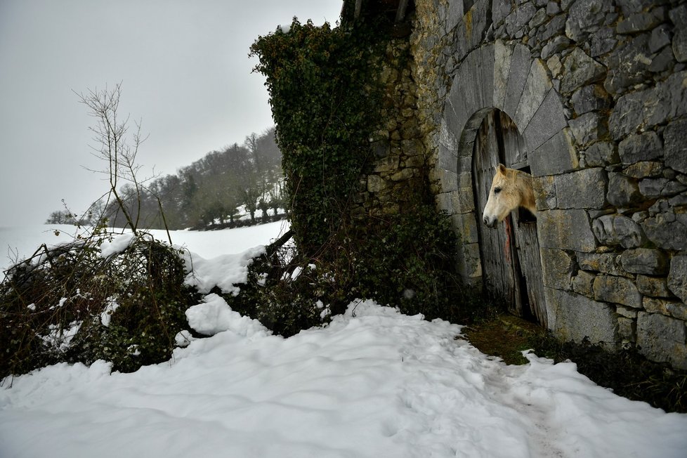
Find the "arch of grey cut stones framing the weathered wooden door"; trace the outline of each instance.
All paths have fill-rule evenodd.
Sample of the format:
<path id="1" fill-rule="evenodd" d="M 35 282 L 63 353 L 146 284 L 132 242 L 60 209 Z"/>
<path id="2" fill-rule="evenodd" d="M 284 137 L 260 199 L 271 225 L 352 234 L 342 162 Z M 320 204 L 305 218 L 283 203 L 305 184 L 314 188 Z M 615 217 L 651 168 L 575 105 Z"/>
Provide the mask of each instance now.
<path id="1" fill-rule="evenodd" d="M 562 174 L 579 166 L 563 104 L 541 59 L 532 58 L 526 46 L 502 41 L 466 55 L 445 100 L 436 172 L 439 207 L 452 215 L 462 235 L 459 272 L 468 282 L 482 277 L 473 145 L 480 124 L 493 110 L 506 113 L 518 126 L 533 176 Z M 537 196 L 538 208 L 544 207 L 542 199 Z"/>

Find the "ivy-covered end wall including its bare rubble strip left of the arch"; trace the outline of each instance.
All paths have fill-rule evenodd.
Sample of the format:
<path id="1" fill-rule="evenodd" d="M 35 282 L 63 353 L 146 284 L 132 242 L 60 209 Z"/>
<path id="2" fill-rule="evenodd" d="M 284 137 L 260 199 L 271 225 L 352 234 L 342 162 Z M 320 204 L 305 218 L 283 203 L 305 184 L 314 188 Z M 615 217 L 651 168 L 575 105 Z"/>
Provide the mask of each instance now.
<path id="1" fill-rule="evenodd" d="M 349 294 L 456 319 L 458 241 L 429 185 L 407 34 L 384 12 L 354 21 L 347 8 L 339 27 L 294 20 L 251 47 L 296 244 Z"/>

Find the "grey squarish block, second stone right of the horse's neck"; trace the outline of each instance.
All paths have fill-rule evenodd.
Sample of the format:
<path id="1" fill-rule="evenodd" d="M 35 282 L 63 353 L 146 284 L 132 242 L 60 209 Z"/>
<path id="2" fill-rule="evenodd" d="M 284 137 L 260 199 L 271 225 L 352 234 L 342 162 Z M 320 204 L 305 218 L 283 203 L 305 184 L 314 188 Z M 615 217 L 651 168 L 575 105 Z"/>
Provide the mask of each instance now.
<path id="1" fill-rule="evenodd" d="M 601 168 L 573 171 L 554 178 L 558 208 L 601 209 L 606 204 L 608 177 Z"/>

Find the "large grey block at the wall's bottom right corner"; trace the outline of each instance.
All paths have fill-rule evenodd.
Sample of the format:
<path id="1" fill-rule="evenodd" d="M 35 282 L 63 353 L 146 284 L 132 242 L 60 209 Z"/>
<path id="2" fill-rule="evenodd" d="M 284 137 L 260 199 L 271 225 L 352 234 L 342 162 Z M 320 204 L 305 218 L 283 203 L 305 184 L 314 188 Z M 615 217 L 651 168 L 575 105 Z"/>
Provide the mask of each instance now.
<path id="1" fill-rule="evenodd" d="M 657 362 L 687 369 L 685 322 L 657 313 L 637 316 L 637 346 L 640 353 Z"/>

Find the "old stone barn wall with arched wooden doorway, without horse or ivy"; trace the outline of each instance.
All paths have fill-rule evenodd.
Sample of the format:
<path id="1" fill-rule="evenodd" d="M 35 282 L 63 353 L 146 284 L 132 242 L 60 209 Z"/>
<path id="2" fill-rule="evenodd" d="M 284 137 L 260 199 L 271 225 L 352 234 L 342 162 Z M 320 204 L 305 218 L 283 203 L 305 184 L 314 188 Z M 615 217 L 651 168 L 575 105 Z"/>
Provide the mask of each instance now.
<path id="1" fill-rule="evenodd" d="M 561 339 L 687 369 L 687 1 L 379 3 L 389 107 L 353 211 L 393 211 L 428 170 L 466 282 Z M 499 162 L 532 174 L 537 215 L 494 229 Z"/>

